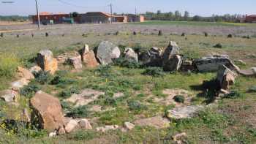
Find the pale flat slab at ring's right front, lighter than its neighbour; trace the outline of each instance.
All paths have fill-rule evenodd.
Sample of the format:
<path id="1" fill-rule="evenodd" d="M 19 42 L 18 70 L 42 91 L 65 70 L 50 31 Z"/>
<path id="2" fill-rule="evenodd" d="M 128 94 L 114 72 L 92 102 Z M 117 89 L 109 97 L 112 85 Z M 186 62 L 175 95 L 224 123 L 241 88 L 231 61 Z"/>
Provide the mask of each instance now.
<path id="1" fill-rule="evenodd" d="M 176 107 L 173 110 L 167 111 L 167 118 L 192 118 L 194 117 L 200 110 L 203 110 L 203 105 L 190 105 L 186 107 Z"/>

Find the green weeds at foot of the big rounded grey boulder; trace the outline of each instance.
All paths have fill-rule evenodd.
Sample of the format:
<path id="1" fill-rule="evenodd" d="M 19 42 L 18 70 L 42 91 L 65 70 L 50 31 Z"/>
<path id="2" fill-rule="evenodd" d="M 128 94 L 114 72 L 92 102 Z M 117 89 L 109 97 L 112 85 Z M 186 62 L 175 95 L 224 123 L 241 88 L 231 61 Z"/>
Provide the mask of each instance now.
<path id="1" fill-rule="evenodd" d="M 119 67 L 127 67 L 129 69 L 137 69 L 141 67 L 141 64 L 138 61 L 130 60 L 127 58 L 117 58 L 114 61 L 114 64 Z"/>

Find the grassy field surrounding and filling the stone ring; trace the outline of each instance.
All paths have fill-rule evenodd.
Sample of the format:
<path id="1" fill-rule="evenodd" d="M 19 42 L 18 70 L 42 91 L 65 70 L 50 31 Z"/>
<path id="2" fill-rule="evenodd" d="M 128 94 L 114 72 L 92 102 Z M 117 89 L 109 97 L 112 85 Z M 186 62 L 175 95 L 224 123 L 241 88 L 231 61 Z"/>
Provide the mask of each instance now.
<path id="1" fill-rule="evenodd" d="M 15 80 L 15 76 L 7 75 L 1 70 L 17 65 L 28 68 L 33 66 L 34 62 L 30 60 L 37 56 L 39 50 L 49 49 L 54 56 L 59 56 L 64 52 L 80 50 L 84 44 L 93 49 L 104 40 L 113 42 L 120 48 L 146 50 L 151 47 L 166 48 L 171 40 L 177 42 L 181 47 L 181 54 L 189 58 L 219 53 L 230 56 L 233 61 L 244 61 L 246 64 L 236 63 L 240 68 L 256 67 L 256 25 L 250 23 L 148 21 L 113 25 L 54 25 L 42 26 L 41 31 L 36 29 L 37 26 L 31 24 L 0 26 L 0 33 L 4 32 L 4 37 L 0 37 L 0 90 L 8 88 Z M 162 30 L 162 36 L 158 36 L 159 30 Z M 133 31 L 138 34 L 133 35 Z M 48 37 L 45 37 L 46 32 Z M 184 37 L 181 37 L 182 33 L 185 34 Z M 208 37 L 205 37 L 205 33 Z M 227 38 L 228 34 L 233 37 Z M 222 48 L 214 48 L 218 43 Z M 126 121 L 165 115 L 165 111 L 174 106 L 164 105 L 155 99 L 165 99 L 167 94 L 164 91 L 170 89 L 189 91 L 192 105 L 208 105 L 213 98 L 203 87 L 203 83 L 216 77 L 216 73 L 197 72 L 163 72 L 159 77 L 154 77 L 143 75 L 146 68 L 132 69 L 116 65 L 97 69 L 84 68 L 82 72 L 70 72 L 69 67 L 60 69 L 56 75 L 72 80 L 72 83 L 52 85 L 33 81 L 33 84 L 58 97 L 61 102 L 69 97 L 68 94 L 63 94 L 69 93 L 72 88 L 78 91 L 92 88 L 105 92 L 104 96 L 87 105 L 88 109 L 94 105 L 104 109 L 100 112 L 91 111 L 86 115 L 93 127 L 113 124 L 121 126 Z M 255 85 L 255 77 L 240 76 L 231 88 L 239 96 L 218 99 L 213 103 L 214 107 L 208 107 L 197 117 L 170 121 L 170 126 L 163 129 L 135 126 L 129 132 L 116 130 L 102 133 L 90 130 L 49 138 L 43 131 L 23 128 L 19 132 L 11 132 L 1 129 L 0 125 L 0 143 L 174 143 L 171 136 L 181 132 L 187 133 L 186 143 L 255 143 L 256 94 L 248 92 Z M 124 96 L 113 99 L 113 94 L 116 93 Z M 130 102 L 137 105 L 129 105 Z M 17 115 L 24 107 L 29 107 L 29 96 L 21 96 L 18 106 L 0 101 L 0 122 L 4 118 L 19 120 Z M 72 110 L 72 105 L 67 105 L 66 108 Z"/>

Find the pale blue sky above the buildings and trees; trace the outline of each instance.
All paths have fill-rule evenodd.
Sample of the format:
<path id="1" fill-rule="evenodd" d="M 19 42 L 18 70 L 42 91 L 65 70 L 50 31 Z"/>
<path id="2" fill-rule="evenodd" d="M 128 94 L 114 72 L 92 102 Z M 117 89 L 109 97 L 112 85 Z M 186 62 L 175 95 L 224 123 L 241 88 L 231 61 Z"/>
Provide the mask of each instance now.
<path id="1" fill-rule="evenodd" d="M 13 4 L 0 3 L 0 15 L 34 15 L 34 0 L 0 0 L 14 1 Z M 41 12 L 109 12 L 108 4 L 113 4 L 113 12 L 174 12 L 185 10 L 190 15 L 208 16 L 212 14 L 256 14 L 256 0 L 37 0 Z"/>

